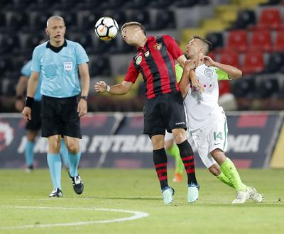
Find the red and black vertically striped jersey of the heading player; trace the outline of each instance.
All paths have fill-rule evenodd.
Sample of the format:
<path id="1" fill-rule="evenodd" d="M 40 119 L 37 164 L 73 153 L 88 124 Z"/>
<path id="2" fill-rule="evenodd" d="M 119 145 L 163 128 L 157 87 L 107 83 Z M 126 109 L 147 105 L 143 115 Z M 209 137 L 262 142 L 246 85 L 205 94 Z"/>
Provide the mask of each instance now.
<path id="1" fill-rule="evenodd" d="M 175 77 L 175 60 L 183 52 L 170 35 L 149 36 L 143 48 L 137 50 L 124 78 L 126 82 L 136 82 L 141 73 L 147 99 L 180 90 Z"/>

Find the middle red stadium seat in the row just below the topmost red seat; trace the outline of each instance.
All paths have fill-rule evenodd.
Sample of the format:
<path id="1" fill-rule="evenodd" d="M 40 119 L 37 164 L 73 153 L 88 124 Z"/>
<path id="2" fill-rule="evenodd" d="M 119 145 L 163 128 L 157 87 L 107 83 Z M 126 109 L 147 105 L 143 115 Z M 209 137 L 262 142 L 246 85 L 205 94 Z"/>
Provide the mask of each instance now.
<path id="1" fill-rule="evenodd" d="M 250 50 L 271 51 L 271 32 L 270 30 L 255 30 L 251 36 Z"/>

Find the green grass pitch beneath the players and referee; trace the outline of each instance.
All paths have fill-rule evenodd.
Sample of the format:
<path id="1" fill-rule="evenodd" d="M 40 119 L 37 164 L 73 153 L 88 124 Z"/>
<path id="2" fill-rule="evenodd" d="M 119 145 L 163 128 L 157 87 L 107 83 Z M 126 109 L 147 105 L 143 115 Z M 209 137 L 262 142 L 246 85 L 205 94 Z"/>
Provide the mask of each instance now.
<path id="1" fill-rule="evenodd" d="M 60 199 L 48 198 L 52 189 L 48 169 L 30 174 L 2 169 L 0 233 L 284 233 L 284 170 L 239 172 L 246 184 L 264 194 L 262 204 L 232 205 L 234 190 L 206 169 L 197 169 L 197 203 L 187 204 L 184 180 L 170 182 L 176 191 L 170 205 L 163 204 L 154 169 L 80 169 L 84 180 L 80 196 L 62 171 Z M 171 181 L 173 171 L 168 175 Z M 116 210 L 148 216 L 127 220 L 135 214 Z"/>

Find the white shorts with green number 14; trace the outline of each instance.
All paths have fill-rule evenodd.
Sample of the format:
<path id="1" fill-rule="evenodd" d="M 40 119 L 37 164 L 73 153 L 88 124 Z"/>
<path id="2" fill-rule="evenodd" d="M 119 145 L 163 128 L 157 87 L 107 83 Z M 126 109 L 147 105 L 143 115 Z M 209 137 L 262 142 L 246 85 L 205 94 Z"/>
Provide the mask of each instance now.
<path id="1" fill-rule="evenodd" d="M 224 113 L 214 116 L 207 126 L 191 132 L 192 140 L 197 147 L 197 151 L 205 167 L 209 168 L 217 163 L 210 152 L 215 149 L 226 152 L 228 145 L 227 133 L 228 128 Z"/>

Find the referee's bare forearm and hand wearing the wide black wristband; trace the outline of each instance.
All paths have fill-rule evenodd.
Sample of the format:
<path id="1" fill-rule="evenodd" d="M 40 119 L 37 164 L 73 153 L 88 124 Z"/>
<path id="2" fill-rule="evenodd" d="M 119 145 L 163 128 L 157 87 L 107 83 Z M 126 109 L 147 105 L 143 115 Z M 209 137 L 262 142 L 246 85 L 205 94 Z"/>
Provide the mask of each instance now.
<path id="1" fill-rule="evenodd" d="M 33 96 L 35 96 L 35 91 L 36 89 L 38 89 L 39 78 L 39 72 L 31 72 L 31 77 L 28 79 L 27 99 L 33 100 Z M 22 114 L 23 118 L 26 121 L 31 121 L 31 107 L 25 106 L 25 108 L 23 108 Z"/>

